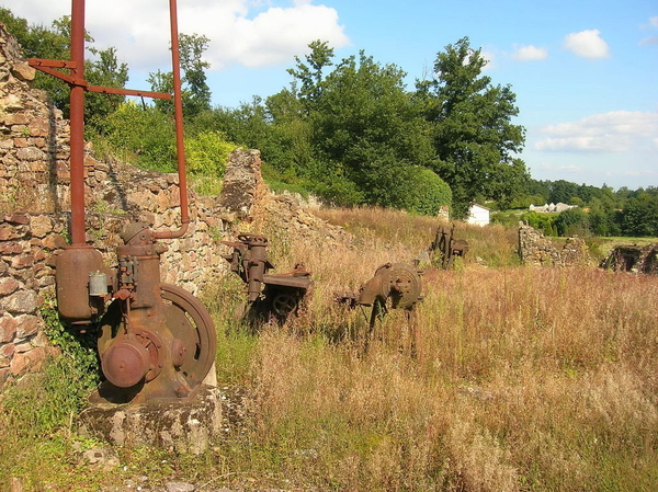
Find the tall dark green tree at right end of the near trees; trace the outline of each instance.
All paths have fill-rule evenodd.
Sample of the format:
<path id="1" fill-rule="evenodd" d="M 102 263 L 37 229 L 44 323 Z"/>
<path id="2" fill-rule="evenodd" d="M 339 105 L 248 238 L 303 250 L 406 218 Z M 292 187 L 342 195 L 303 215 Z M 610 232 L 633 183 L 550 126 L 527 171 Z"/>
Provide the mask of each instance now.
<path id="1" fill-rule="evenodd" d="M 435 171 L 453 191 L 456 215 L 465 215 L 477 195 L 509 203 L 527 179 L 525 164 L 513 157 L 525 141 L 524 128 L 511 123 L 517 96 L 510 85 L 494 87 L 481 76 L 486 62 L 464 37 L 436 55 L 435 79 L 417 82 L 432 125 Z"/>

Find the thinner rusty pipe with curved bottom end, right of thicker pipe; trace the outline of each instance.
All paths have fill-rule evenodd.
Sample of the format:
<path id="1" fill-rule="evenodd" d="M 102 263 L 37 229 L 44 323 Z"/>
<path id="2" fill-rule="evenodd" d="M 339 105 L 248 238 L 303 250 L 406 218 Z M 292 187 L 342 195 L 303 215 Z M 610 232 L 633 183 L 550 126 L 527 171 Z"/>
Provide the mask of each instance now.
<path id="1" fill-rule="evenodd" d="M 173 76 L 173 118 L 175 123 L 175 149 L 178 160 L 179 188 L 181 199 L 181 228 L 154 232 L 155 239 L 180 238 L 190 224 L 188 206 L 188 176 L 185 175 L 185 140 L 183 133 L 183 98 L 181 92 L 181 56 L 178 34 L 178 11 L 175 0 L 169 0 L 171 22 L 171 70 Z"/>

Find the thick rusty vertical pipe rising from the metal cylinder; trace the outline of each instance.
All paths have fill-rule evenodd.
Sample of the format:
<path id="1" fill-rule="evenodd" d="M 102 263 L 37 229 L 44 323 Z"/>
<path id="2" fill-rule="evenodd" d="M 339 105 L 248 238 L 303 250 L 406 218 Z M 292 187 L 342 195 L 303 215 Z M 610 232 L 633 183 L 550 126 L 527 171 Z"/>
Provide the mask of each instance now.
<path id="1" fill-rule="evenodd" d="M 71 5 L 71 76 L 84 80 L 84 0 Z M 70 90 L 70 168 L 71 168 L 71 243 L 86 243 L 84 238 L 84 88 L 72 84 Z"/>

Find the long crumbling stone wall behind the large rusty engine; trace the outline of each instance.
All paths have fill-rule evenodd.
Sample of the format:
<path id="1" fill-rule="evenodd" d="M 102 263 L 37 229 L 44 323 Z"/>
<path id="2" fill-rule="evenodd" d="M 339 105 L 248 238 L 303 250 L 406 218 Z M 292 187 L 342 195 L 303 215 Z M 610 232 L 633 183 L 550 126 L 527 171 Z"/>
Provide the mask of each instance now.
<path id="1" fill-rule="evenodd" d="M 56 353 L 44 334 L 41 308 L 54 298 L 55 255 L 67 244 L 70 220 L 69 122 L 45 92 L 32 88 L 34 69 L 21 56 L 0 23 L 0 391 L 8 379 L 38 371 Z M 308 214 L 290 196 L 269 193 L 260 165 L 258 150 L 237 149 L 222 196 L 189 191 L 189 231 L 167 241 L 162 282 L 197 295 L 228 273 L 220 241 L 245 229 L 258 232 L 263 224 L 285 225 L 282 233 L 293 240 L 349 244 L 350 234 L 340 227 Z M 109 266 L 129 221 L 152 229 L 180 227 L 175 173 L 101 161 L 88 145 L 84 187 L 87 242 Z"/>

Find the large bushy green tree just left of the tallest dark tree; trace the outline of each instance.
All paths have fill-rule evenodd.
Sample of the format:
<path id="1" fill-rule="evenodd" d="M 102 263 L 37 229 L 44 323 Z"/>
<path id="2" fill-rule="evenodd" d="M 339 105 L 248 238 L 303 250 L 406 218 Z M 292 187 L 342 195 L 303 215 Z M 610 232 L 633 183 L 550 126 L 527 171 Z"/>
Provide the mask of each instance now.
<path id="1" fill-rule="evenodd" d="M 344 187 L 350 199 L 361 195 L 368 204 L 406 208 L 412 202 L 413 167 L 432 165 L 435 158 L 427 124 L 405 91 L 405 72 L 361 52 L 325 75 L 334 66 L 332 50 L 319 42 L 310 47 L 307 64 L 297 59 L 297 68 L 290 70 L 302 87 L 298 116 L 310 123 L 298 128 L 313 147 L 306 171 L 321 181 L 354 183 L 354 188 Z M 293 84 L 291 93 L 295 90 Z M 282 121 L 272 114 L 275 125 Z"/>

